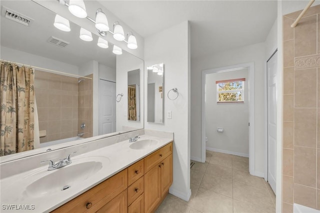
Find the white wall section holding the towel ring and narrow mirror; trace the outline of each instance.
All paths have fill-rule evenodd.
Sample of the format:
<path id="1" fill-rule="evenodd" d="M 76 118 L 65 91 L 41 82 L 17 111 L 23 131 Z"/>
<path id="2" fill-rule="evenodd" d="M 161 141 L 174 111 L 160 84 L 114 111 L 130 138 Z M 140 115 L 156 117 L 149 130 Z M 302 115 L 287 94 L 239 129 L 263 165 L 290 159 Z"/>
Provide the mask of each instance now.
<path id="1" fill-rule="evenodd" d="M 164 116 L 163 124 L 148 123 L 144 119 L 146 129 L 156 129 L 174 132 L 173 142 L 173 183 L 169 192 L 188 200 L 190 191 L 189 164 L 189 24 L 180 24 L 164 29 L 145 38 L 145 78 L 147 82 L 146 66 L 164 63 L 164 114 L 172 111 L 172 119 Z M 179 97 L 169 100 L 166 93 L 176 87 Z M 146 93 L 146 91 L 144 92 Z M 147 100 L 144 100 L 144 105 Z M 146 110 L 145 110 L 146 113 Z M 146 116 L 145 116 L 146 117 Z"/>

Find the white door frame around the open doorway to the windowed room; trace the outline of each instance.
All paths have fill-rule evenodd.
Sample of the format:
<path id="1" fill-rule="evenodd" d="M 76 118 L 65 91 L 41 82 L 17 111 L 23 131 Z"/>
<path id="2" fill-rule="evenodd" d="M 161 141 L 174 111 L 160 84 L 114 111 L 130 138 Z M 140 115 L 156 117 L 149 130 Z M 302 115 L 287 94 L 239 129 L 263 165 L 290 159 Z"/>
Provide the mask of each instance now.
<path id="1" fill-rule="evenodd" d="M 241 68 L 249 69 L 248 101 L 249 101 L 249 173 L 255 175 L 255 152 L 254 152 L 254 62 L 235 64 L 202 70 L 202 111 L 201 111 L 201 161 L 205 162 L 205 75 L 214 72 L 230 71 Z"/>

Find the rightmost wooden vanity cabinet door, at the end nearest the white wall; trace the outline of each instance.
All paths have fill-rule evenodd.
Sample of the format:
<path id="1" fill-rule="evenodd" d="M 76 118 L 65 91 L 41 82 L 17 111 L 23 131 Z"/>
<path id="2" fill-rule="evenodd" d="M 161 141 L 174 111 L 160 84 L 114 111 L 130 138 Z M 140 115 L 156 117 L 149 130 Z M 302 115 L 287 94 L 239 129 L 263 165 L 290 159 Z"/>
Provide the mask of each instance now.
<path id="1" fill-rule="evenodd" d="M 172 154 L 161 161 L 161 197 L 169 190 L 172 184 Z"/>

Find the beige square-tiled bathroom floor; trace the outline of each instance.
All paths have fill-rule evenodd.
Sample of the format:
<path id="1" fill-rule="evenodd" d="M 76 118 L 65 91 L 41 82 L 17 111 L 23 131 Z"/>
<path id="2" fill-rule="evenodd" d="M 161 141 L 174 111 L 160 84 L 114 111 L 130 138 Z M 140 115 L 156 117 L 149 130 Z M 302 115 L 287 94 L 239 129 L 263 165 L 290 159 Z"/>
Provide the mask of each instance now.
<path id="1" fill-rule="evenodd" d="M 156 212 L 275 212 L 271 187 L 248 170 L 247 157 L 206 151 L 190 169 L 189 201 L 168 194 Z"/>

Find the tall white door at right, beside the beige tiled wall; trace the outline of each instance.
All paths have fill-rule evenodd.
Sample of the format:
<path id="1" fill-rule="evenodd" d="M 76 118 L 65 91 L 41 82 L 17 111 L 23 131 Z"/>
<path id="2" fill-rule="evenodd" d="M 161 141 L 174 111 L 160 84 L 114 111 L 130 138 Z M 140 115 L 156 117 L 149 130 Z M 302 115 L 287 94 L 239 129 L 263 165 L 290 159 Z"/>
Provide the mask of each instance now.
<path id="1" fill-rule="evenodd" d="M 267 180 L 275 193 L 276 182 L 276 73 L 277 52 L 266 63 L 267 67 Z"/>

